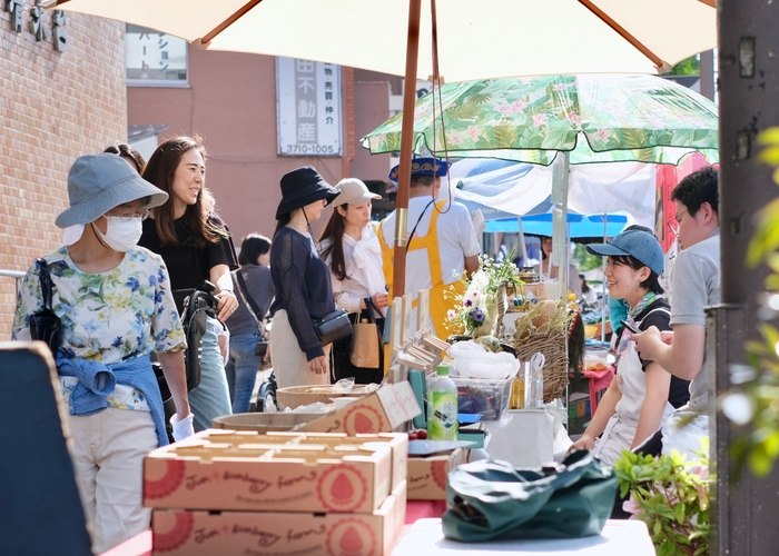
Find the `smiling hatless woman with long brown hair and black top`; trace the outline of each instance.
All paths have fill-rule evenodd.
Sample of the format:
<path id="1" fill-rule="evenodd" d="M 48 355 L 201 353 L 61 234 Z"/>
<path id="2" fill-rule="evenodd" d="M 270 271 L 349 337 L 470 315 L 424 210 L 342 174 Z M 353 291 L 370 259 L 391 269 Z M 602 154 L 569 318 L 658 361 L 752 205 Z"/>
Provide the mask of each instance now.
<path id="1" fill-rule="evenodd" d="M 184 298 L 208 280 L 216 286 L 216 318 L 208 317 L 201 339 L 200 384 L 189 393 L 195 430 L 211 426 L 215 417 L 230 415 L 231 404 L 218 337 L 238 308 L 230 270 L 238 268 L 233 239 L 214 212 L 206 181 L 206 149 L 189 137 L 162 142 L 146 165 L 144 178 L 169 198 L 144 222 L 140 245 L 162 257 L 170 286 L 183 312 Z M 221 321 L 221 322 L 220 322 Z"/>

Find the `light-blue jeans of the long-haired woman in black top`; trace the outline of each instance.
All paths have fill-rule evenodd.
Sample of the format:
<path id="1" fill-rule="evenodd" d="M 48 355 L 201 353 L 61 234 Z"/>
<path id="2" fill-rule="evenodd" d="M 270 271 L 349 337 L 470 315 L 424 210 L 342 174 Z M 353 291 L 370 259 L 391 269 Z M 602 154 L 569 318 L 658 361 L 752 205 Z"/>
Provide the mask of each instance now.
<path id="1" fill-rule="evenodd" d="M 206 334 L 203 335 L 200 385 L 189 393 L 189 408 L 195 414 L 196 433 L 210 428 L 215 417 L 233 414 L 225 365 L 216 339 L 217 326 L 221 326 L 219 321 L 208 317 Z"/>

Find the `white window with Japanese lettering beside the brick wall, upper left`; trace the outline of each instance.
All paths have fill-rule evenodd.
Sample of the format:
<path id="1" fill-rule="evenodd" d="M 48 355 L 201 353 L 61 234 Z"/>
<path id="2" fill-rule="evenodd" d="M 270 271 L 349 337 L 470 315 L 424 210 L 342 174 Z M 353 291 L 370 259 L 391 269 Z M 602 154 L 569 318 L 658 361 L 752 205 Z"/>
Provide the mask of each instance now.
<path id="1" fill-rule="evenodd" d="M 129 87 L 189 87 L 186 40 L 127 23 L 125 43 Z"/>

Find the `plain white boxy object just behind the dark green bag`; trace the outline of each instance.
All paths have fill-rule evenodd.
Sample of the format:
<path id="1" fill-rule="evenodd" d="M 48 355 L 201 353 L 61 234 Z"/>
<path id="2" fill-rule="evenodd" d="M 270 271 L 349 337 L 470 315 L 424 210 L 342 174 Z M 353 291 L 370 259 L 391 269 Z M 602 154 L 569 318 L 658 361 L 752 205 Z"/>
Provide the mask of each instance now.
<path id="1" fill-rule="evenodd" d="M 561 461 L 571 446 L 565 427 L 546 408 L 509 409 L 502 420 L 484 421 L 490 431 L 485 451 L 516 467 Z"/>

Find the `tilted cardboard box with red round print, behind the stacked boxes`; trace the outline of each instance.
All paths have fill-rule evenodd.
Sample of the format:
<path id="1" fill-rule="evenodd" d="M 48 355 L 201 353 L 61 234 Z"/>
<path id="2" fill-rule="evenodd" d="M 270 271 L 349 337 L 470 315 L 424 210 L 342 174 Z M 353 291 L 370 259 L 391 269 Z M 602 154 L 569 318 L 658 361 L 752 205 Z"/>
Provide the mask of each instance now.
<path id="1" fill-rule="evenodd" d="M 422 413 L 408 381 L 387 384 L 346 407 L 296 430 L 375 435 L 391 433 Z"/>

